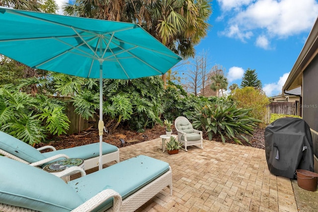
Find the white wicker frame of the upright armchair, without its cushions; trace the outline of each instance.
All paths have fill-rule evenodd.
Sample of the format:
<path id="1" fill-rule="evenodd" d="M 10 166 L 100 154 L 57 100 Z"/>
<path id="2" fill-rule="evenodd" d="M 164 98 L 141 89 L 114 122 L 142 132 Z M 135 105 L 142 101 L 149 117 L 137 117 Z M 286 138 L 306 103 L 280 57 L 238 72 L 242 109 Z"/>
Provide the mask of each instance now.
<path id="1" fill-rule="evenodd" d="M 195 146 L 197 148 L 201 148 L 203 149 L 203 136 L 202 136 L 202 131 L 199 130 L 195 130 L 193 129 L 194 133 L 200 134 L 201 139 L 198 141 L 187 141 L 187 134 L 183 133 L 181 131 L 178 130 L 177 128 L 177 123 L 179 121 L 182 120 L 187 120 L 189 122 L 189 120 L 187 118 L 185 118 L 184 116 L 179 116 L 178 118 L 175 119 L 174 121 L 174 127 L 176 129 L 176 131 L 178 132 L 178 141 L 180 143 L 182 143 L 184 145 L 184 148 L 182 148 L 184 151 L 188 151 L 187 146 Z M 181 137 L 183 136 L 184 140 L 181 140 Z"/>

